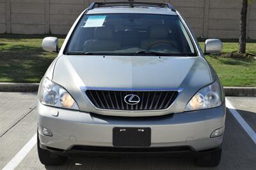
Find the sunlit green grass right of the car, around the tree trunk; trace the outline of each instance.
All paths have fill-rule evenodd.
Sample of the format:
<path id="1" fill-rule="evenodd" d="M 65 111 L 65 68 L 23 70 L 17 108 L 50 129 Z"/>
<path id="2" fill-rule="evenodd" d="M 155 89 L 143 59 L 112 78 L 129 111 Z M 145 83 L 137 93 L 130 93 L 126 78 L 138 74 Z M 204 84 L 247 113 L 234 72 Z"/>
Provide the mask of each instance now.
<path id="1" fill-rule="evenodd" d="M 204 42 L 200 42 L 204 49 Z M 223 53 L 234 52 L 238 43 L 223 43 Z M 256 43 L 247 43 L 246 52 L 256 55 Z M 256 87 L 256 59 L 228 58 L 207 55 L 206 59 L 214 67 L 224 86 Z"/>

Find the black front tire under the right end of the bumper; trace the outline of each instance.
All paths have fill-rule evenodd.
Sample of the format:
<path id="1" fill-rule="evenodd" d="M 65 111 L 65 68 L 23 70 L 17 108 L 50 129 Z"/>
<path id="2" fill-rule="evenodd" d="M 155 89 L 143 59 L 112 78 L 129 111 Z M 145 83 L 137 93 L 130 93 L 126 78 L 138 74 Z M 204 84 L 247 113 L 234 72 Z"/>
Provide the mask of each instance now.
<path id="1" fill-rule="evenodd" d="M 215 167 L 220 164 L 221 148 L 216 148 L 210 153 L 206 153 L 195 159 L 195 165 L 199 167 Z"/>

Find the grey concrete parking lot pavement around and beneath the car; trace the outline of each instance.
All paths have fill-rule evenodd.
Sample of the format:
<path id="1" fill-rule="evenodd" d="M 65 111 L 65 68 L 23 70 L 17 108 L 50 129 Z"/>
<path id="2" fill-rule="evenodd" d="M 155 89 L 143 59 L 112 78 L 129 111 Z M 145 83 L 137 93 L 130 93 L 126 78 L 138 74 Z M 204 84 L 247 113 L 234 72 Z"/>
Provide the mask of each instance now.
<path id="1" fill-rule="evenodd" d="M 241 118 L 256 132 L 256 97 L 227 97 Z M 36 134 L 36 94 L 0 93 L 0 169 Z M 233 110 L 234 112 L 234 110 Z M 256 137 L 255 137 L 256 138 Z M 70 158 L 63 166 L 40 163 L 35 143 L 22 152 L 15 169 L 198 169 L 188 158 Z M 26 148 L 26 147 L 25 147 Z M 24 151 L 24 150 L 23 150 Z M 19 155 L 19 159 L 20 159 Z M 15 160 L 15 159 L 14 159 Z M 13 164 L 14 164 L 13 163 Z M 203 168 L 202 168 L 203 169 Z M 227 109 L 223 155 L 212 169 L 256 169 L 256 143 Z"/>

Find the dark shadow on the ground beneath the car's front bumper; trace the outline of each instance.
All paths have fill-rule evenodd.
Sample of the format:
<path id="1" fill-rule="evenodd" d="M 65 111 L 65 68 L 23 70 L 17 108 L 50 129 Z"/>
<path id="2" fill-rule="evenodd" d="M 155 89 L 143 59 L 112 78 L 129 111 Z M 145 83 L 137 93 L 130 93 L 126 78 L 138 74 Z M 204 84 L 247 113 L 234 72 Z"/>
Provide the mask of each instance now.
<path id="1" fill-rule="evenodd" d="M 192 159 L 172 158 L 72 158 L 63 166 L 46 169 L 188 169 L 196 167 Z"/>

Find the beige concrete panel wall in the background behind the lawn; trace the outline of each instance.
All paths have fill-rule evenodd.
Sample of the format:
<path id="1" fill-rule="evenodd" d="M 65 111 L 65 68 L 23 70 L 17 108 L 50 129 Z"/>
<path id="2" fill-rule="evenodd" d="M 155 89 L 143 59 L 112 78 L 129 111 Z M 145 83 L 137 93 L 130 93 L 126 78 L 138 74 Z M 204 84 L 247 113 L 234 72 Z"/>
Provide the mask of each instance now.
<path id="1" fill-rule="evenodd" d="M 0 33 L 67 34 L 79 13 L 92 1 L 0 0 Z M 188 20 L 196 36 L 239 38 L 241 0 L 172 0 L 171 2 Z M 247 29 L 248 38 L 256 39 L 256 3 L 249 5 Z"/>

